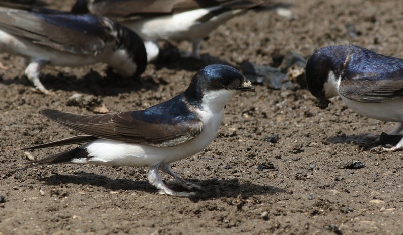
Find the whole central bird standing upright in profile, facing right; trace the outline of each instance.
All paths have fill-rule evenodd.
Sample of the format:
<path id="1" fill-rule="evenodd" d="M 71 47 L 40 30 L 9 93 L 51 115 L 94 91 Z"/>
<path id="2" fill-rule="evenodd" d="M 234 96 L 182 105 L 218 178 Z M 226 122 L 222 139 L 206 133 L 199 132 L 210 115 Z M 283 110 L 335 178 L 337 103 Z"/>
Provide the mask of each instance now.
<path id="1" fill-rule="evenodd" d="M 73 150 L 28 162 L 38 167 L 57 163 L 90 163 L 108 166 L 150 167 L 150 184 L 159 193 L 191 196 L 168 188 L 158 170 L 175 178 L 188 190 L 201 187 L 173 173 L 171 163 L 206 148 L 220 127 L 225 105 L 236 95 L 255 91 L 235 68 L 209 65 L 197 72 L 180 95 L 138 111 L 78 115 L 58 110 L 41 111 L 47 118 L 85 135 L 29 147 L 36 149 L 88 142 Z"/>

